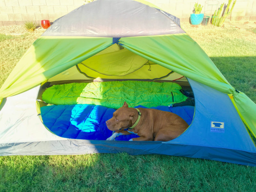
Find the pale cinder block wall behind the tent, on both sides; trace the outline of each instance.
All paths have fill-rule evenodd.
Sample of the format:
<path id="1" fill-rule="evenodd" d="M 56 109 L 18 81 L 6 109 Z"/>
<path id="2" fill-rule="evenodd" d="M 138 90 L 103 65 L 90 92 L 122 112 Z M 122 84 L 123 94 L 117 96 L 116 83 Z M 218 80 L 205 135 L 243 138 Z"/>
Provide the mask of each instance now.
<path id="1" fill-rule="evenodd" d="M 204 6 L 201 13 L 211 12 L 217 7 L 217 5 L 209 6 L 209 3 L 214 3 L 205 0 L 148 0 L 148 2 L 179 17 L 181 21 L 189 21 L 195 2 Z M 218 2 L 220 7 L 221 3 L 227 4 L 228 0 Z M 26 21 L 40 23 L 43 19 L 52 22 L 84 3 L 84 0 L 0 0 L 0 26 L 22 25 Z M 240 22 L 256 21 L 256 0 L 237 0 L 229 19 Z"/>

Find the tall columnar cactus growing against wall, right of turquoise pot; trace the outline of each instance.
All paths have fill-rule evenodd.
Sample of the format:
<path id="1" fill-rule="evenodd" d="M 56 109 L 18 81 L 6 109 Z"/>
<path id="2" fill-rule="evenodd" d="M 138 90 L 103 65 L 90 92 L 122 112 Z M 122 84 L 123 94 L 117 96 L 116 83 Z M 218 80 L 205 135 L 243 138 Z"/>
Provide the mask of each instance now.
<path id="1" fill-rule="evenodd" d="M 221 15 L 224 3 L 220 5 L 220 8 L 219 8 L 218 12 L 217 12 L 217 10 L 214 12 L 213 18 L 212 18 L 212 25 L 218 26 L 218 27 L 222 27 L 223 26 L 223 23 L 224 23 L 226 17 L 231 14 L 231 12 L 232 12 L 235 4 L 236 4 L 236 0 L 234 0 L 234 3 L 232 4 L 231 9 L 229 10 L 229 7 L 230 7 L 230 4 L 232 3 L 232 1 L 233 0 L 228 0 L 228 5 L 227 5 L 227 7 L 225 9 L 225 12 L 222 14 L 221 17 L 220 17 L 220 15 Z"/>

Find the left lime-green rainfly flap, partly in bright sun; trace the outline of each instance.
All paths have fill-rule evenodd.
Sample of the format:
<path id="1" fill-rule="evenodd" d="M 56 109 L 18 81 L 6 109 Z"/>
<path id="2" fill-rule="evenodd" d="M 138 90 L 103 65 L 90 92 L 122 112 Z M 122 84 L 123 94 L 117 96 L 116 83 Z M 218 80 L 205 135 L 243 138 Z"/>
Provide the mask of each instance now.
<path id="1" fill-rule="evenodd" d="M 41 36 L 0 89 L 0 101 L 27 91 L 112 45 L 112 38 Z"/>

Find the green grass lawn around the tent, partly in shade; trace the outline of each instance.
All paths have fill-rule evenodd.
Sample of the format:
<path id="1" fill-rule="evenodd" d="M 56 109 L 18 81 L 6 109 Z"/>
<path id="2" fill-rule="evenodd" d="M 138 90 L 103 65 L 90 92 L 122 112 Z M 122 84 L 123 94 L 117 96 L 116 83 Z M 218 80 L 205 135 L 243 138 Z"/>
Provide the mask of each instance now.
<path id="1" fill-rule="evenodd" d="M 229 83 L 256 102 L 253 30 L 191 28 L 188 24 L 183 28 Z M 0 35 L 0 86 L 39 35 Z M 255 192 L 255 189 L 255 167 L 204 159 L 126 153 L 0 157 L 0 191 Z"/>

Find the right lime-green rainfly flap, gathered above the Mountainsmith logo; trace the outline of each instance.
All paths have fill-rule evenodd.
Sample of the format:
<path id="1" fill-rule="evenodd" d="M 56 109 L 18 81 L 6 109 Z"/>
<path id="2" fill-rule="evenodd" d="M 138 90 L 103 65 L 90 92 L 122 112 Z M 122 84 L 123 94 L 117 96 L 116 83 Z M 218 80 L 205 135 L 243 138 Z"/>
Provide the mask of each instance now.
<path id="1" fill-rule="evenodd" d="M 138 37 L 124 37 L 120 44 L 163 67 L 233 95 L 241 119 L 256 138 L 256 104 L 228 83 L 202 48 L 187 34 L 144 36 L 140 40 Z"/>

